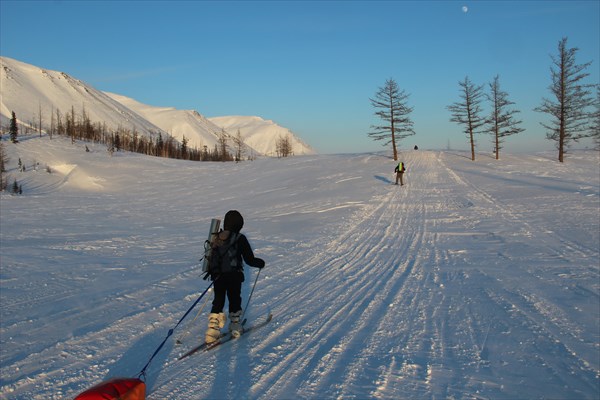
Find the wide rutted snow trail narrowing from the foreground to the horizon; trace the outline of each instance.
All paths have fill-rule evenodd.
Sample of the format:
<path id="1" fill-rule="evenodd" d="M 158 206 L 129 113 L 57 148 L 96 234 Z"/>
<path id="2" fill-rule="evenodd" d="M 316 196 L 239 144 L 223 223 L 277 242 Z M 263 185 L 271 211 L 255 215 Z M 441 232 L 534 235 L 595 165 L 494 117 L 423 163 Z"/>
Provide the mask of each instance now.
<path id="1" fill-rule="evenodd" d="M 484 208 L 489 220 L 503 221 L 506 231 L 529 237 L 539 229 L 465 181 L 439 155 L 409 158 L 408 163 L 419 171 L 418 179 L 407 173 L 406 187 L 380 192 L 338 237 L 304 244 L 302 251 L 314 256 L 294 266 L 294 272 L 306 282 L 300 290 L 290 287 L 271 299 L 269 303 L 278 305 L 273 309 L 275 326 L 260 340 L 249 338 L 248 356 L 260 362 L 247 366 L 252 372 L 240 383 L 248 384 L 248 392 L 219 389 L 216 384 L 206 392 L 201 390 L 204 385 L 191 380 L 199 392 L 207 398 L 242 393 L 281 399 L 510 398 L 518 397 L 520 390 L 505 386 L 497 371 L 510 375 L 515 366 L 515 374 L 530 368 L 538 372 L 531 382 L 519 381 L 530 391 L 585 398 L 598 389 L 598 365 L 569 349 L 569 342 L 579 340 L 572 333 L 576 325 L 564 311 L 553 309 L 548 299 L 529 292 L 526 297 L 523 289 L 508 289 L 498 276 L 473 265 L 484 254 L 440 250 L 447 238 L 463 236 L 489 242 L 492 248 L 505 244 L 501 235 L 476 230 L 484 224 L 469 217 L 473 207 Z M 445 221 L 452 221 L 456 230 L 456 220 L 465 230 L 445 232 Z M 557 254 L 557 240 L 567 249 L 580 247 L 555 235 L 542 236 L 541 251 L 551 258 L 564 257 L 564 250 Z M 594 257 L 593 249 L 581 251 L 576 255 Z M 506 256 L 499 254 L 499 259 L 504 262 Z M 500 269 L 501 262 L 493 264 Z M 538 278 L 531 272 L 523 271 L 519 278 L 529 276 L 531 282 L 523 287 L 533 289 Z M 516 328 L 502 331 L 502 321 Z M 506 338 L 513 332 L 516 343 Z M 498 354 L 502 346 L 497 342 L 519 348 L 504 356 Z M 214 364 L 219 362 L 216 355 L 209 356 L 217 371 L 201 370 L 200 375 L 208 382 L 239 376 L 244 369 L 239 364 L 246 359 L 233 360 L 233 354 L 227 353 L 231 361 L 223 368 Z M 158 390 L 155 395 L 166 393 Z"/>

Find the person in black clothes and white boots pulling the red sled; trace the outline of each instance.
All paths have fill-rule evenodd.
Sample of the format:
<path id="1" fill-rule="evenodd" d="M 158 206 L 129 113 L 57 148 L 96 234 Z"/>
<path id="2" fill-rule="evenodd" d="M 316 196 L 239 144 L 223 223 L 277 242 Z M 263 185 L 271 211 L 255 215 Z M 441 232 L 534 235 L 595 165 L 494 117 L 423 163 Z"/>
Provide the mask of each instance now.
<path id="1" fill-rule="evenodd" d="M 219 233 L 219 239 L 227 241 L 231 235 L 236 245 L 235 260 L 239 267 L 234 268 L 231 272 L 211 275 L 214 281 L 214 299 L 212 309 L 208 316 L 208 330 L 206 331 L 205 341 L 211 344 L 217 341 L 221 335 L 221 328 L 225 326 L 225 314 L 223 307 L 225 306 L 225 296 L 229 300 L 229 330 L 233 337 L 238 337 L 242 333 L 240 318 L 242 316 L 242 282 L 244 282 L 244 270 L 242 258 L 244 262 L 251 267 L 264 268 L 265 261 L 254 257 L 252 247 L 248 239 L 240 230 L 244 226 L 244 218 L 236 211 L 231 210 L 225 214 L 223 221 L 223 231 Z M 236 238 L 237 237 L 237 238 Z"/>

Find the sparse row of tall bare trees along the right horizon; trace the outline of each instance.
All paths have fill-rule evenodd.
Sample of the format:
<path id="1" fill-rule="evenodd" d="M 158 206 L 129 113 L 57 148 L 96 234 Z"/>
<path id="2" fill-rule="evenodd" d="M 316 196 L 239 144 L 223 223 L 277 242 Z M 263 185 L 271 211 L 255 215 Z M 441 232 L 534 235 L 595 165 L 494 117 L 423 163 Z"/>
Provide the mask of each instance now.
<path id="1" fill-rule="evenodd" d="M 567 38 L 558 43 L 558 55 L 551 56 L 549 90 L 552 96 L 544 98 L 534 109 L 550 117 L 550 122 L 541 122 L 541 125 L 546 129 L 547 139 L 556 143 L 560 162 L 564 161 L 570 144 L 584 138 L 592 138 L 600 150 L 600 85 L 583 82 L 589 76 L 585 70 L 591 62 L 576 64 L 577 51 L 577 48 L 567 46 Z M 512 108 L 515 103 L 501 89 L 498 75 L 489 83 L 488 92 L 484 92 L 484 85 L 474 84 L 468 76 L 459 82 L 459 86 L 460 101 L 447 107 L 451 113 L 450 121 L 463 126 L 472 160 L 475 160 L 475 135 L 479 133 L 492 135 L 496 159 L 499 159 L 506 138 L 524 131 L 520 126 L 522 121 L 517 118 L 520 111 Z M 408 97 L 393 79 L 388 79 L 370 99 L 377 109 L 375 115 L 383 120 L 383 124 L 372 126 L 368 135 L 374 140 L 383 140 L 385 146 L 391 144 L 394 160 L 398 160 L 399 141 L 415 134 L 410 118 L 413 108 L 408 106 Z M 482 108 L 484 99 L 491 109 L 487 114 Z"/>

